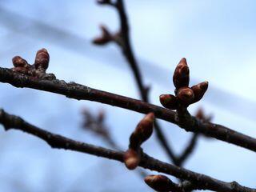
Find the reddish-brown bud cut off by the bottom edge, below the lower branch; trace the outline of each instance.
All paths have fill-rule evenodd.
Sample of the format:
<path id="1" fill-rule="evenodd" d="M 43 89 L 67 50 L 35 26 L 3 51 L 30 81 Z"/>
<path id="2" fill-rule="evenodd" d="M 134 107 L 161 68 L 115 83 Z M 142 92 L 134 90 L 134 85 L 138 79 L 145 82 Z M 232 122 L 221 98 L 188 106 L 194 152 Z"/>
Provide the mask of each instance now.
<path id="1" fill-rule="evenodd" d="M 175 184 L 169 178 L 161 174 L 146 176 L 144 181 L 153 190 L 157 190 L 160 192 L 179 191 L 177 184 Z"/>

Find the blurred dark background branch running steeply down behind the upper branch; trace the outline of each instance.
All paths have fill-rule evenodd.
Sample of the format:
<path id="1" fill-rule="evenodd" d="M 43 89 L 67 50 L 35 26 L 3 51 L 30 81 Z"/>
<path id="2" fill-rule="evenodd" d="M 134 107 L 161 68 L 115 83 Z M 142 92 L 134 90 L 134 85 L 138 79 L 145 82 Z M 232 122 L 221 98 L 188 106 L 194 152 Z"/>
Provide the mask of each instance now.
<path id="1" fill-rule="evenodd" d="M 96 42 L 96 44 L 98 45 L 104 45 L 106 42 L 115 42 L 121 48 L 122 54 L 126 58 L 127 63 L 129 64 L 130 69 L 134 74 L 135 82 L 138 86 L 139 94 L 142 98 L 142 101 L 149 102 L 149 87 L 145 86 L 143 83 L 142 73 L 141 70 L 139 70 L 138 62 L 134 56 L 134 51 L 130 44 L 130 27 L 123 1 L 98 1 L 98 3 L 102 5 L 105 4 L 113 6 L 118 11 L 120 21 L 120 32 L 117 34 L 110 34 L 110 32 L 104 26 L 102 26 L 102 37 L 96 38 L 96 41 L 94 39 L 94 43 Z M 97 42 L 103 42 L 103 44 Z M 170 143 L 167 142 L 165 135 L 162 133 L 161 126 L 157 121 L 155 121 L 155 132 L 158 141 L 162 145 L 163 149 L 166 151 L 166 154 L 170 158 L 170 161 L 176 162 L 177 158 L 174 154 L 174 151 L 171 149 Z"/>

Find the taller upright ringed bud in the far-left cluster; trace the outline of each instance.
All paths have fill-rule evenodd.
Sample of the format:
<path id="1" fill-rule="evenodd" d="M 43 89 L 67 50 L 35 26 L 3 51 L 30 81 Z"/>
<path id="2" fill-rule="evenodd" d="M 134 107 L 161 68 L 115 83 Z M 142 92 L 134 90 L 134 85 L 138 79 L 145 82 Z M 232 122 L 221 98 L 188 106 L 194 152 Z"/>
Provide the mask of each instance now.
<path id="1" fill-rule="evenodd" d="M 50 56 L 47 52 L 46 49 L 38 50 L 35 61 L 34 61 L 34 66 L 35 69 L 42 68 L 43 70 L 46 70 L 48 68 L 50 61 Z"/>

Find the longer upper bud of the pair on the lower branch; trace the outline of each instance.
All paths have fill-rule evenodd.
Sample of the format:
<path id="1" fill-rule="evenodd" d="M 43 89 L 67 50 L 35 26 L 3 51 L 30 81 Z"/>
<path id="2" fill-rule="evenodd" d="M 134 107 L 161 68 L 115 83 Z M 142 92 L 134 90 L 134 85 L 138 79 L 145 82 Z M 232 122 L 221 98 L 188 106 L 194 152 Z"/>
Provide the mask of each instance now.
<path id="1" fill-rule="evenodd" d="M 138 123 L 138 126 L 134 130 L 133 134 L 130 135 L 130 148 L 138 150 L 142 142 L 145 142 L 150 138 L 153 133 L 154 126 L 154 114 L 146 114 L 144 118 Z"/>

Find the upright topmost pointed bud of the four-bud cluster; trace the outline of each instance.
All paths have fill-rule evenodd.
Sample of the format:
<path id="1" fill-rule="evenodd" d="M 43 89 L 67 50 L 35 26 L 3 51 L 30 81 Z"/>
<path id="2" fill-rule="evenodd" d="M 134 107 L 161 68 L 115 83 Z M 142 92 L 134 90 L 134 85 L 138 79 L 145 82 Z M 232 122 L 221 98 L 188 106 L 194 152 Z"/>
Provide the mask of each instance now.
<path id="1" fill-rule="evenodd" d="M 190 69 L 187 66 L 186 58 L 182 58 L 182 60 L 176 66 L 173 81 L 176 89 L 179 89 L 182 86 L 189 86 Z"/>

